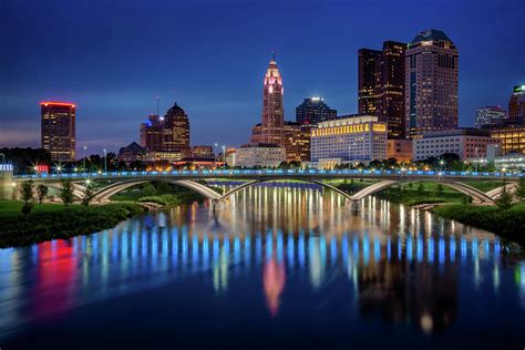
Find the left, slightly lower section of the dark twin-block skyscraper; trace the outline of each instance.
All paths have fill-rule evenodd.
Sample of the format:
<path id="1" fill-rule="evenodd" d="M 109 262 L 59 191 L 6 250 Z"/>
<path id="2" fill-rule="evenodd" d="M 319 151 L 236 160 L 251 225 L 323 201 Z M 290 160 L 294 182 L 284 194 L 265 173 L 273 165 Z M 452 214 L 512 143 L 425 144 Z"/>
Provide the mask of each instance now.
<path id="1" fill-rule="evenodd" d="M 359 114 L 375 115 L 375 65 L 381 51 L 358 51 L 358 111 Z"/>

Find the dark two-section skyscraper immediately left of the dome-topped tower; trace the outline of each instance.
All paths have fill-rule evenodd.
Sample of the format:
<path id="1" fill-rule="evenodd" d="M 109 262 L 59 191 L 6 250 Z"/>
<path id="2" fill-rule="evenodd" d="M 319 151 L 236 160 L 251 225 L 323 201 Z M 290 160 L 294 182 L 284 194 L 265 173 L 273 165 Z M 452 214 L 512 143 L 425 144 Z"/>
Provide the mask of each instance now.
<path id="1" fill-rule="evenodd" d="M 388 123 L 389 138 L 404 138 L 404 53 L 406 44 L 383 42 L 382 51 L 361 49 L 359 61 L 359 113 Z"/>

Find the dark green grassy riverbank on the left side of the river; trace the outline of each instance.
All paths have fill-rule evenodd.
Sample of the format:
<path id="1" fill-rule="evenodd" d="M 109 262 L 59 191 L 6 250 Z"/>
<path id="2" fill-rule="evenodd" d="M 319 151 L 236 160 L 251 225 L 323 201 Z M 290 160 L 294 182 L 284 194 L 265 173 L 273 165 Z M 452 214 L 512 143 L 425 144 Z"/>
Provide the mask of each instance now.
<path id="1" fill-rule="evenodd" d="M 117 203 L 102 206 L 65 208 L 58 204 L 42 204 L 32 213 L 21 213 L 22 203 L 0 202 L 0 248 L 32 245 L 52 239 L 66 239 L 116 226 L 133 215 L 144 212 L 137 204 Z"/>

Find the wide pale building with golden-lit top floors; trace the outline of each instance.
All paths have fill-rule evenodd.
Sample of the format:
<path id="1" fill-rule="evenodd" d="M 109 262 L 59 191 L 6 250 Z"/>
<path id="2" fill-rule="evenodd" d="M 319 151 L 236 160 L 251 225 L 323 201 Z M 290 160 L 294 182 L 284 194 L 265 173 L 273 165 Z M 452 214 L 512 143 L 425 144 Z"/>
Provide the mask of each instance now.
<path id="1" fill-rule="evenodd" d="M 387 158 L 387 123 L 374 115 L 349 115 L 321 122 L 311 130 L 311 162 L 337 158 L 369 162 Z"/>

